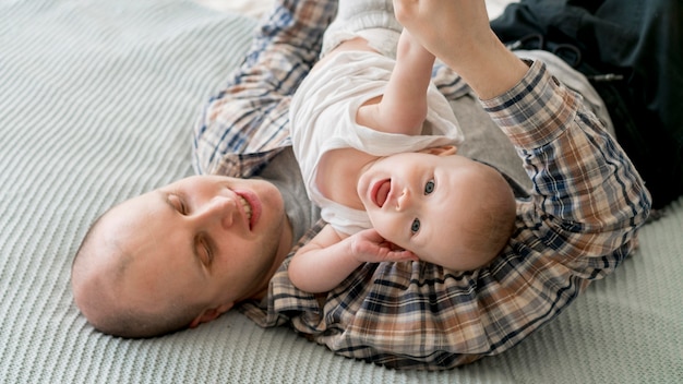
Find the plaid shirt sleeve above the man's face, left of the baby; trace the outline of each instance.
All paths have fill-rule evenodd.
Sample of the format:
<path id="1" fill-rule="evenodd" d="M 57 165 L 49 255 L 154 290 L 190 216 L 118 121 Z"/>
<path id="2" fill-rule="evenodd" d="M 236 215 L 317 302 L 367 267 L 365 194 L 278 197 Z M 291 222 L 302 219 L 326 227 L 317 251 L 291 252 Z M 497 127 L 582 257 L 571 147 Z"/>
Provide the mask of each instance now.
<path id="1" fill-rule="evenodd" d="M 249 178 L 289 140 L 289 101 L 317 60 L 336 1 L 279 1 L 194 128 L 197 173 Z"/>

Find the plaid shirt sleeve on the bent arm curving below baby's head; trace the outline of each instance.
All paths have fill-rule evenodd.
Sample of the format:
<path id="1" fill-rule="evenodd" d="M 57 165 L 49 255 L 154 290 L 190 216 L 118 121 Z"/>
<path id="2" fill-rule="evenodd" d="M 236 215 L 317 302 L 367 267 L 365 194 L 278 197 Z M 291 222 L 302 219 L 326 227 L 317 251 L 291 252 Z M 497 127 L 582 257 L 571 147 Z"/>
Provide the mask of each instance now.
<path id="1" fill-rule="evenodd" d="M 543 63 L 482 101 L 523 158 L 535 190 L 489 266 L 364 264 L 326 296 L 297 290 L 287 264 L 268 297 L 242 311 L 290 324 L 336 353 L 397 369 L 450 369 L 513 347 L 554 319 L 634 249 L 650 197 L 631 161 Z M 311 232 L 311 233 L 314 233 Z"/>

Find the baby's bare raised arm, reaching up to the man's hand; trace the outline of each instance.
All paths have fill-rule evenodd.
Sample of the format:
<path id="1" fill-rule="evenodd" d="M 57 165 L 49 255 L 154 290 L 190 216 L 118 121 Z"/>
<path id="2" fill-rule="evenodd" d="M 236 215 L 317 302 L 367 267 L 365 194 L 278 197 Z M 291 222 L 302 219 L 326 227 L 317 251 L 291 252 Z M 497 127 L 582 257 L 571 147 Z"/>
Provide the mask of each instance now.
<path id="1" fill-rule="evenodd" d="M 379 103 L 359 108 L 358 123 L 382 132 L 420 134 L 433 65 L 434 56 L 404 29 L 386 91 Z"/>

